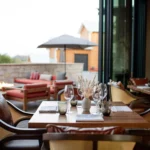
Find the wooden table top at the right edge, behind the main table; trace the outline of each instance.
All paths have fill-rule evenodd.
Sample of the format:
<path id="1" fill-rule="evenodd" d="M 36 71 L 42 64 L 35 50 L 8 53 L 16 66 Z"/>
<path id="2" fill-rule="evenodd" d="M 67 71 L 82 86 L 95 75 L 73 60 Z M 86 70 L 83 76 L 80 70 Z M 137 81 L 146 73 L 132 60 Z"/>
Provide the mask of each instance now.
<path id="1" fill-rule="evenodd" d="M 141 92 L 150 95 L 150 87 L 141 85 L 141 86 L 136 86 L 136 85 L 127 85 L 127 88 L 135 91 L 135 92 Z"/>

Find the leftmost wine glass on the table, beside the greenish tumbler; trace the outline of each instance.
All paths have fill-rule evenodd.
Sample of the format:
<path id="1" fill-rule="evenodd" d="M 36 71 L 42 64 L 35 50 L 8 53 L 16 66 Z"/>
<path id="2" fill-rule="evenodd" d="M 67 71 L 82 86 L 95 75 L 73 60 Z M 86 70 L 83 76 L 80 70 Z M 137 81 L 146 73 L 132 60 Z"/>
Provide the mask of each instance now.
<path id="1" fill-rule="evenodd" d="M 68 106 L 68 111 L 67 113 L 71 113 L 70 111 L 70 101 L 73 99 L 74 97 L 74 88 L 72 85 L 65 85 L 64 88 L 64 98 L 67 100 L 67 106 Z"/>

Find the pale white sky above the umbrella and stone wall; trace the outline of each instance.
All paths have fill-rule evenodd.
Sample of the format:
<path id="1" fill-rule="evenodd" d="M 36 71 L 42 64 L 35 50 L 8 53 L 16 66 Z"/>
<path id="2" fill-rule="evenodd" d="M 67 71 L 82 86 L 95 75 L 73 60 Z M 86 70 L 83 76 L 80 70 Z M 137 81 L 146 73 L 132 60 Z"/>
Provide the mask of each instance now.
<path id="1" fill-rule="evenodd" d="M 98 7 L 99 0 L 0 0 L 0 54 L 47 61 L 48 51 L 37 46 L 62 34 L 79 36 L 82 22 L 98 21 Z"/>

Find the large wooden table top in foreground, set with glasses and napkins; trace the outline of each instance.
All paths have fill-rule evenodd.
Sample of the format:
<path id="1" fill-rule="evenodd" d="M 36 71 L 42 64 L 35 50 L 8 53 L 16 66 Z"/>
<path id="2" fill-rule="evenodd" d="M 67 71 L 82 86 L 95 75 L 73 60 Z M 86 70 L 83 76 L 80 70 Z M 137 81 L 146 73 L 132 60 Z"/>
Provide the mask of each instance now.
<path id="1" fill-rule="evenodd" d="M 66 125 L 76 127 L 103 127 L 103 126 L 121 126 L 124 128 L 150 128 L 143 117 L 136 112 L 111 112 L 108 117 L 104 116 L 104 121 L 97 122 L 76 122 L 76 115 L 82 113 L 82 107 L 72 107 L 72 113 L 60 115 L 59 113 L 39 113 L 40 107 L 57 105 L 57 101 L 43 101 L 35 114 L 29 120 L 29 128 L 45 128 L 47 124 Z M 113 103 L 114 106 L 124 105 L 121 102 Z M 95 106 L 91 106 L 90 112 L 95 112 Z"/>

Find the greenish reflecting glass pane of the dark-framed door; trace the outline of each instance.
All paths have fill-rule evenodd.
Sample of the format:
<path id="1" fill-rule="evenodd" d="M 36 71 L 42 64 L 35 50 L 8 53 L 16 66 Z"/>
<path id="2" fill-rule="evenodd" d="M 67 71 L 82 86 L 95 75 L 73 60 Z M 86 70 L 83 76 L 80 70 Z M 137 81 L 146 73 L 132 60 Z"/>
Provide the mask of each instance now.
<path id="1" fill-rule="evenodd" d="M 130 77 L 132 1 L 113 1 L 112 79 L 124 85 Z"/>

